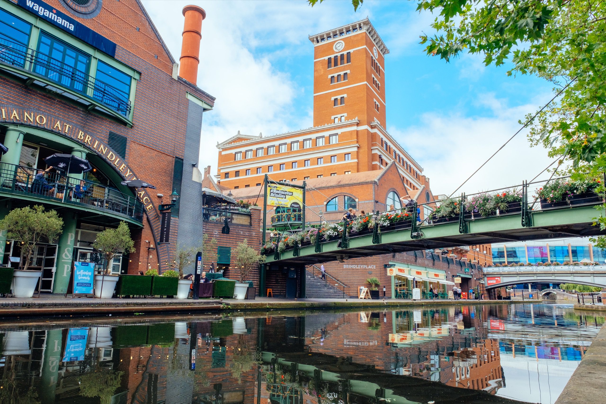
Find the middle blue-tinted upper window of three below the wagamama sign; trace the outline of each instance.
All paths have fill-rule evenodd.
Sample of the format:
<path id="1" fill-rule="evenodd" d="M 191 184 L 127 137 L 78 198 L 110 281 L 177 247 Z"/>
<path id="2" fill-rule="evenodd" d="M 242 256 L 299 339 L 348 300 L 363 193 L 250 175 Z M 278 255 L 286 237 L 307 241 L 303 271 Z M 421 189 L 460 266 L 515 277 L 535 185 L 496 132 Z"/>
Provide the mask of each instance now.
<path id="1" fill-rule="evenodd" d="M 40 33 L 38 59 L 34 71 L 53 81 L 85 93 L 90 56 L 47 33 Z"/>

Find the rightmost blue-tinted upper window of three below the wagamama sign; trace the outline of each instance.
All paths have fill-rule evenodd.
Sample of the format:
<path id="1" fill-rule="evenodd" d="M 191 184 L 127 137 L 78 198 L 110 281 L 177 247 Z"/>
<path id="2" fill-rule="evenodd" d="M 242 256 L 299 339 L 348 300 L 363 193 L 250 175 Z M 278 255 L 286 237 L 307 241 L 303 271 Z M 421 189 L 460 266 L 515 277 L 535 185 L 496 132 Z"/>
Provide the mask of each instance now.
<path id="1" fill-rule="evenodd" d="M 122 115 L 128 114 L 132 78 L 118 69 L 99 61 L 93 96 Z"/>

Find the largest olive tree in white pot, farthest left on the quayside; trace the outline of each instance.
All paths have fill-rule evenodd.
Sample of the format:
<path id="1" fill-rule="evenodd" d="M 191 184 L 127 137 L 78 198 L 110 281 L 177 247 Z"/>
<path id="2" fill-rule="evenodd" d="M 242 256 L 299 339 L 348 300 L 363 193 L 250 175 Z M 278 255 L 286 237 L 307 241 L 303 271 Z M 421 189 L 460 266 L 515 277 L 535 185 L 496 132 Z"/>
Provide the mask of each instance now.
<path id="1" fill-rule="evenodd" d="M 54 239 L 63 228 L 63 220 L 55 210 L 45 211 L 42 205 L 28 206 L 10 211 L 0 220 L 0 230 L 7 231 L 7 238 L 21 242 L 22 270 L 13 272 L 13 295 L 32 297 L 42 271 L 30 271 L 32 255 L 42 241 Z M 19 267 L 21 268 L 21 267 Z"/>

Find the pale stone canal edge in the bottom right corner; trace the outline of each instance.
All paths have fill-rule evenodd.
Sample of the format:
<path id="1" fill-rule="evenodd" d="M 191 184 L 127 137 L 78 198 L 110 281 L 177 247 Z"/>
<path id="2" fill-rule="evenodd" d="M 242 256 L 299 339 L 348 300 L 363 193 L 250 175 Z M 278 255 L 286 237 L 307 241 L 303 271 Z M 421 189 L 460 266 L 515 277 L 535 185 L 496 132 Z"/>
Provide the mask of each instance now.
<path id="1" fill-rule="evenodd" d="M 574 308 L 577 308 L 576 305 Z M 566 383 L 556 404 L 596 404 L 604 402 L 606 391 L 606 323 Z"/>

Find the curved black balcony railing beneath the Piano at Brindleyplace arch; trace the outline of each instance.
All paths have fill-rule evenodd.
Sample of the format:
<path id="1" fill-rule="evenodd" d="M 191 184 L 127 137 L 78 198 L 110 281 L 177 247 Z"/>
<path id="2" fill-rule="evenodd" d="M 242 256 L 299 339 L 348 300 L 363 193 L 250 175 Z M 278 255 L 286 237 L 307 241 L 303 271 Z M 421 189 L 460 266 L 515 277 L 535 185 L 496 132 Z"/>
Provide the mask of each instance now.
<path id="1" fill-rule="evenodd" d="M 42 174 L 42 175 L 38 175 Z M 142 222 L 143 205 L 115 188 L 23 165 L 0 164 L 0 192 L 81 205 Z"/>

